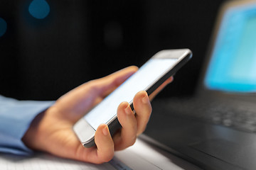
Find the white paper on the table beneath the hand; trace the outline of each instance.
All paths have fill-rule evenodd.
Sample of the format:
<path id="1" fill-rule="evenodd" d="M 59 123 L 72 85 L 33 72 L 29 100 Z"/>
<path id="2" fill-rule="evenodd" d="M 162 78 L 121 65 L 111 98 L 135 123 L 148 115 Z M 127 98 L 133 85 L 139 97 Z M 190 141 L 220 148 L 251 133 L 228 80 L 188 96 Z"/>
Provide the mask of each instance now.
<path id="1" fill-rule="evenodd" d="M 171 154 L 169 154 L 171 155 Z M 171 156 L 174 158 L 174 156 Z M 193 165 L 183 162 L 193 169 Z M 0 154 L 0 169 L 2 170 L 98 170 L 98 169 L 182 169 L 174 164 L 170 157 L 161 154 L 154 147 L 142 140 L 137 140 L 134 146 L 116 152 L 112 161 L 105 164 L 88 164 L 70 159 L 55 157 L 50 154 L 37 153 L 33 157 L 21 157 L 13 154 Z"/>

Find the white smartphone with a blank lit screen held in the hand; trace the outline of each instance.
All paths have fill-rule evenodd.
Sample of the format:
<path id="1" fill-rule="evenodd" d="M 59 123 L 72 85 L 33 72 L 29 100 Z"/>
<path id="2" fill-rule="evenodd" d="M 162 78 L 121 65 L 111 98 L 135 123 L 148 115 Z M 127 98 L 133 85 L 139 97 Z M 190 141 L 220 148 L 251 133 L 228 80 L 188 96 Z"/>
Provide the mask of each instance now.
<path id="1" fill-rule="evenodd" d="M 133 108 L 133 98 L 139 91 L 150 95 L 161 84 L 178 71 L 192 57 L 189 49 L 162 50 L 151 57 L 129 79 L 92 108 L 73 126 L 75 134 L 84 147 L 95 145 L 95 132 L 102 123 L 108 125 L 110 134 L 121 128 L 117 120 L 117 107 L 127 101 Z"/>

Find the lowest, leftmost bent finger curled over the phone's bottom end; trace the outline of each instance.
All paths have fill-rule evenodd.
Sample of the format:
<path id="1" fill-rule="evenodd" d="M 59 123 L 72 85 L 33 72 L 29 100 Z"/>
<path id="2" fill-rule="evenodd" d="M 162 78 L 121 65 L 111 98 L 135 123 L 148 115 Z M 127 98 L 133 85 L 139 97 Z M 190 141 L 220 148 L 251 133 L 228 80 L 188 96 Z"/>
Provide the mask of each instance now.
<path id="1" fill-rule="evenodd" d="M 95 132 L 95 144 L 97 149 L 91 156 L 92 162 L 101 164 L 109 162 L 114 157 L 114 143 L 107 125 L 100 125 Z"/>

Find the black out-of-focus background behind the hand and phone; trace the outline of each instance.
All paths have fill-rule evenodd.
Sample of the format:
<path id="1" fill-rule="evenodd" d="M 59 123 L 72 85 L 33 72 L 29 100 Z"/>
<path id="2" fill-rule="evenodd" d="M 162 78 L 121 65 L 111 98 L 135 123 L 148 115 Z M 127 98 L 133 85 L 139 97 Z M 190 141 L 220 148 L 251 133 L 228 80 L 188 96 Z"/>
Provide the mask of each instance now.
<path id="1" fill-rule="evenodd" d="M 223 0 L 47 0 L 36 19 L 31 1 L 1 0 L 7 23 L 0 37 L 0 94 L 55 100 L 80 84 L 129 65 L 141 66 L 159 50 L 188 47 L 193 60 L 159 98 L 190 96 Z"/>

